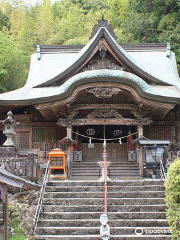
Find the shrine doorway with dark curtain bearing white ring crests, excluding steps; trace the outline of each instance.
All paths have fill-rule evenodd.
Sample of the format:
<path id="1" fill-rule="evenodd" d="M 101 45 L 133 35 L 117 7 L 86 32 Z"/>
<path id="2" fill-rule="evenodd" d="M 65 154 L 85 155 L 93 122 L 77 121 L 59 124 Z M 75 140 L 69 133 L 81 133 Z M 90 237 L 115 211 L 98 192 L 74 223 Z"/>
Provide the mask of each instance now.
<path id="1" fill-rule="evenodd" d="M 82 152 L 82 161 L 97 162 L 102 159 L 103 139 L 105 134 L 106 139 L 111 139 L 107 141 L 108 160 L 111 162 L 126 162 L 128 161 L 129 151 L 127 138 L 122 138 L 120 142 L 119 139 L 127 136 L 129 132 L 134 133 L 136 127 L 125 125 L 93 125 L 74 127 L 74 131 L 88 137 L 83 137 L 81 135 L 78 137 L 76 136 L 78 142 L 77 150 Z"/>

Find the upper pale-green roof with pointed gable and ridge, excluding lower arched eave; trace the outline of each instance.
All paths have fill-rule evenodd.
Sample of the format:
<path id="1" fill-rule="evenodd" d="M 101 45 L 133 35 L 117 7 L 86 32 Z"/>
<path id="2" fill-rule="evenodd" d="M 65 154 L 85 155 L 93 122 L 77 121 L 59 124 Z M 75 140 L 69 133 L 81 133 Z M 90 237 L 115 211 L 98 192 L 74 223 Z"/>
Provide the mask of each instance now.
<path id="1" fill-rule="evenodd" d="M 37 59 L 37 54 L 32 55 L 26 87 L 49 86 L 56 79 L 64 78 L 65 75 L 73 72 L 73 66 L 77 66 L 80 61 L 83 62 L 83 57 L 92 48 L 100 31 L 104 31 L 122 57 L 128 60 L 128 64 L 133 64 L 138 71 L 143 72 L 144 76 L 149 76 L 155 82 L 159 81 L 161 85 L 180 85 L 175 54 L 171 51 L 170 56 L 167 57 L 165 45 L 136 44 L 134 48 L 133 45 L 126 45 L 126 48 L 129 47 L 129 51 L 126 51 L 108 33 L 107 29 L 101 28 L 84 47 L 82 45 L 69 48 L 67 46 L 42 46 L 43 53 L 41 53 L 40 60 Z"/>

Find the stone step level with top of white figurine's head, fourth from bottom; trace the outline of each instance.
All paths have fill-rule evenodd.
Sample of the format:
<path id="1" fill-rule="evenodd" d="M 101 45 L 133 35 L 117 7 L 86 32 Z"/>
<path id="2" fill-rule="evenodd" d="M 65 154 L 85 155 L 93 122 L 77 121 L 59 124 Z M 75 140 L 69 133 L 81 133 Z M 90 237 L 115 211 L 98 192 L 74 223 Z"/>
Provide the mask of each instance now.
<path id="1" fill-rule="evenodd" d="M 43 212 L 45 219 L 97 219 L 102 212 Z M 166 212 L 111 212 L 109 219 L 164 219 Z"/>

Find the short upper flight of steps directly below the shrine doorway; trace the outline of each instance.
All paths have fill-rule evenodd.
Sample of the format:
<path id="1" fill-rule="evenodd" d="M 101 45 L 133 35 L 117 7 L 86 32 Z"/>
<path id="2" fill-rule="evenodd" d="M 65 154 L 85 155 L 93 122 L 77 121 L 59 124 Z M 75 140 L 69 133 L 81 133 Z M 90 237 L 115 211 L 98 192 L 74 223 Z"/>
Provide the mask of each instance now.
<path id="1" fill-rule="evenodd" d="M 75 162 L 72 167 L 73 180 L 97 180 L 100 167 L 97 162 Z M 139 179 L 139 166 L 136 162 L 112 162 L 108 167 L 108 176 L 115 179 Z"/>

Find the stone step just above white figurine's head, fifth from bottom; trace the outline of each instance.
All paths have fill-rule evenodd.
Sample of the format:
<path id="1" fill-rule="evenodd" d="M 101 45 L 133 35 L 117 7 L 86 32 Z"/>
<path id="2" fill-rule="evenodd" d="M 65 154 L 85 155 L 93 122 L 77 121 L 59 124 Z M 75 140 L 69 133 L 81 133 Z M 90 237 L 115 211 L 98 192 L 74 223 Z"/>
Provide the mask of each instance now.
<path id="1" fill-rule="evenodd" d="M 112 205 L 108 206 L 108 212 L 163 212 L 165 204 L 161 205 Z M 45 212 L 103 212 L 103 205 L 43 205 Z"/>

